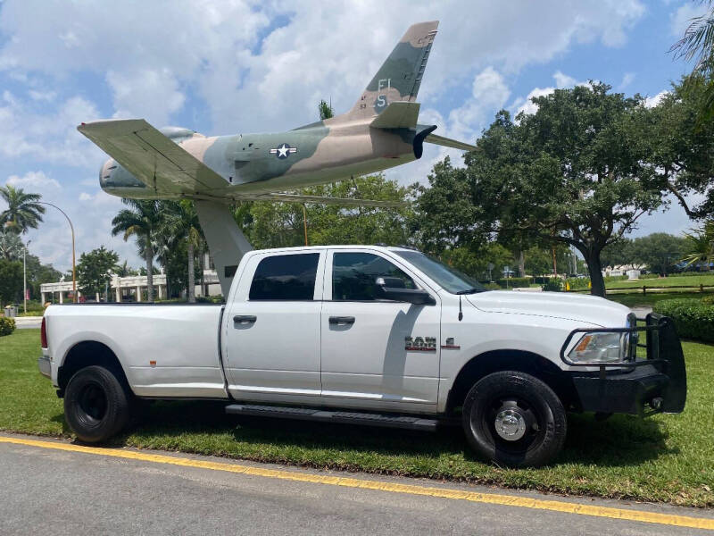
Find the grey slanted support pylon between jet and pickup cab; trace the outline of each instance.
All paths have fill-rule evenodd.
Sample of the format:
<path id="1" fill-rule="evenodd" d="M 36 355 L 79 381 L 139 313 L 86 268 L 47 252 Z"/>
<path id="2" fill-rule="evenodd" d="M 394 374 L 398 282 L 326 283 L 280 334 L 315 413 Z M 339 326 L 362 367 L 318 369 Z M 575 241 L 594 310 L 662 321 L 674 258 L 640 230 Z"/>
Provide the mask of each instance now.
<path id="1" fill-rule="evenodd" d="M 243 255 L 253 251 L 253 246 L 238 228 L 228 205 L 196 199 L 195 212 L 218 272 L 223 298 L 228 299 L 228 290 L 238 263 Z"/>

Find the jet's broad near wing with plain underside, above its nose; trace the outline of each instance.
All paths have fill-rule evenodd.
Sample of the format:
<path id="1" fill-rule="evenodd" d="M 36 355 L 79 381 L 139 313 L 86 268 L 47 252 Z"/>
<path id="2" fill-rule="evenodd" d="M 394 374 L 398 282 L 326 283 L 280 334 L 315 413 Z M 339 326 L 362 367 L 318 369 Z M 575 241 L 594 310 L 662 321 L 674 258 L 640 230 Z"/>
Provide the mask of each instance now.
<path id="1" fill-rule="evenodd" d="M 157 193 L 207 193 L 228 181 L 143 119 L 82 123 L 77 130 Z"/>

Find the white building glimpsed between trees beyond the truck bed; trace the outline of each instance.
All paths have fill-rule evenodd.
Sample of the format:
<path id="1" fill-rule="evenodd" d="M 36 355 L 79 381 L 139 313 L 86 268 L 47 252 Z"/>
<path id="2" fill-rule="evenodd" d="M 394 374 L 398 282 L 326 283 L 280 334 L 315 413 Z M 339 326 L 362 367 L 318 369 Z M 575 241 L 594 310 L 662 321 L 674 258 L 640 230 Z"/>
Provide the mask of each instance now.
<path id="1" fill-rule="evenodd" d="M 204 266 L 212 266 L 208 255 L 205 256 L 203 261 Z M 129 275 L 128 277 L 112 276 L 112 282 L 108 289 L 111 293 L 110 299 L 117 302 L 145 301 L 147 299 L 148 290 L 147 279 L 145 275 Z M 63 280 L 64 278 L 56 283 L 43 283 L 40 285 L 40 294 L 43 304 L 47 301 L 62 304 L 65 298 L 71 301 L 72 282 Z M 220 296 L 220 281 L 218 279 L 218 273 L 216 273 L 214 269 L 207 268 L 203 270 L 203 284 L 200 278 L 195 282 L 196 297 Z M 82 297 L 82 293 L 79 292 L 79 290 L 77 294 L 80 298 Z M 156 297 L 156 299 L 164 299 L 166 296 L 166 275 L 163 273 L 154 273 L 154 297 Z M 99 294 L 95 296 L 85 296 L 85 299 L 99 301 Z"/>

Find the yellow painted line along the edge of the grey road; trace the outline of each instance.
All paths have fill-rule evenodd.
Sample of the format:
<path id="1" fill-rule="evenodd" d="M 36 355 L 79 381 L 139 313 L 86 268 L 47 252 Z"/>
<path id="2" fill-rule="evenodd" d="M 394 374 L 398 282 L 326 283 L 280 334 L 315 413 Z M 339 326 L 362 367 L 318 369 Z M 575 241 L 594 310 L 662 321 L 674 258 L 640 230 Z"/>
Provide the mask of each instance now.
<path id="1" fill-rule="evenodd" d="M 411 484 L 401 484 L 395 482 L 378 482 L 361 480 L 356 478 L 346 478 L 343 476 L 329 476 L 326 474 L 311 474 L 294 471 L 282 471 L 278 469 L 265 469 L 262 467 L 252 467 L 249 465 L 237 465 L 219 462 L 209 462 L 183 457 L 163 456 L 160 454 L 149 454 L 134 450 L 123 450 L 120 448 L 96 448 L 83 447 L 81 445 L 71 445 L 54 441 L 23 440 L 0 436 L 0 443 L 12 443 L 16 445 L 27 445 L 38 448 L 54 448 L 55 450 L 68 450 L 71 452 L 82 452 L 99 456 L 112 456 L 117 458 L 140 460 L 153 462 L 155 464 L 180 465 L 183 467 L 197 467 L 199 469 L 210 469 L 212 471 L 223 471 L 226 473 L 242 473 L 266 478 L 277 478 L 280 480 L 295 482 L 312 482 L 316 484 L 327 484 L 330 486 L 344 486 L 346 488 L 361 488 L 362 490 L 391 491 L 394 493 L 408 493 L 411 495 L 426 495 L 428 497 L 452 498 L 468 500 L 477 503 L 492 505 L 502 505 L 507 507 L 534 508 L 536 510 L 549 510 L 552 512 L 563 512 L 565 514 L 592 515 L 594 517 L 608 517 L 610 519 L 625 519 L 627 521 L 639 521 L 642 523 L 658 523 L 677 527 L 687 527 L 691 529 L 706 529 L 714 531 L 714 519 L 704 517 L 690 517 L 687 515 L 658 514 L 656 512 L 645 512 L 643 510 L 629 510 L 613 507 L 596 507 L 594 505 L 584 505 L 560 500 L 544 500 L 540 498 L 519 497 L 513 495 L 502 495 L 498 493 L 481 493 L 467 490 L 449 490 L 445 488 L 434 488 L 428 486 L 415 486 Z"/>

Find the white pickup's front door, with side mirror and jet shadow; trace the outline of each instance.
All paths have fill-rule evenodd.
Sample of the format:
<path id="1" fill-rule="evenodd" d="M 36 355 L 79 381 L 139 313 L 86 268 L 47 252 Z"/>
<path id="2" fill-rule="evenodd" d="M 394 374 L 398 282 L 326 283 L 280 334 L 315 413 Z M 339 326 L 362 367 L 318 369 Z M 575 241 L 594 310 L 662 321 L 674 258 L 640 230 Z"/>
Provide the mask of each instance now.
<path id="1" fill-rule="evenodd" d="M 378 299 L 378 277 L 430 291 L 397 264 L 374 250 L 330 250 L 322 306 L 323 398 L 382 409 L 436 404 L 441 307 Z"/>

